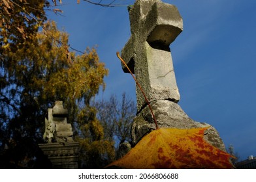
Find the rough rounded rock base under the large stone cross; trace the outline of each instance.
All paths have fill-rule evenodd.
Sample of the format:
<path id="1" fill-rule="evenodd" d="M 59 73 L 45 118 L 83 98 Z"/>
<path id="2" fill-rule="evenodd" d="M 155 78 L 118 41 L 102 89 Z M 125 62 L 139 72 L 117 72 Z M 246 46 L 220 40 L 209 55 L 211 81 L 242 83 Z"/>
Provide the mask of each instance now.
<path id="1" fill-rule="evenodd" d="M 207 134 L 204 135 L 205 140 L 225 151 L 225 145 L 219 137 L 217 130 L 208 123 L 195 122 L 185 114 L 184 110 L 178 104 L 168 100 L 159 100 L 153 101 L 151 106 L 159 127 L 189 129 L 210 126 L 206 130 Z M 133 122 L 131 128 L 133 146 L 142 136 L 150 133 L 153 129 L 155 129 L 155 123 L 153 122 L 150 109 L 146 107 L 136 116 Z"/>

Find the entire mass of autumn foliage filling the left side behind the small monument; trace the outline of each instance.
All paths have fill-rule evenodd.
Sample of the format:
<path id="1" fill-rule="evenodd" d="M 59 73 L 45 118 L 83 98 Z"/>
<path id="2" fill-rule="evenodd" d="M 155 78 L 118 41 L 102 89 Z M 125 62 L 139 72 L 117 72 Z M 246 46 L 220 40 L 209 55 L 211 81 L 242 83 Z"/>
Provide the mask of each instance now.
<path id="1" fill-rule="evenodd" d="M 94 47 L 72 48 L 67 32 L 46 21 L 46 12 L 62 12 L 59 3 L 0 1 L 0 168 L 48 167 L 41 165 L 45 160 L 37 162 L 37 145 L 44 142 L 44 117 L 56 100 L 69 110 L 80 143 L 79 168 L 114 160 L 114 141 L 105 137 L 92 105 L 108 70 Z"/>

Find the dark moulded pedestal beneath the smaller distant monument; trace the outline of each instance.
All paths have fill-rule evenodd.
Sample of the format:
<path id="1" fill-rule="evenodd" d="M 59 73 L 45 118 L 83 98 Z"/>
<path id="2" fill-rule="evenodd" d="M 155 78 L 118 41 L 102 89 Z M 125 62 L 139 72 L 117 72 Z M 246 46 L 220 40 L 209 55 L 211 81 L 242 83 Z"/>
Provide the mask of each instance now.
<path id="1" fill-rule="evenodd" d="M 39 144 L 55 169 L 78 168 L 78 142 Z"/>

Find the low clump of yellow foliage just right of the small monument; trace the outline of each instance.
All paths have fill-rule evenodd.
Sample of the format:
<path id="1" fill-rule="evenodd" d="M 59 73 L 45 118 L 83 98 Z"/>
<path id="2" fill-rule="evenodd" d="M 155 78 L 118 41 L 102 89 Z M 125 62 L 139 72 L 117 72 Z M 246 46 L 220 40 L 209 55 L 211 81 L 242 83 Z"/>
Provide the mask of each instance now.
<path id="1" fill-rule="evenodd" d="M 78 114 L 80 157 L 88 168 L 102 168 L 115 157 L 114 142 L 104 139 L 104 129 L 95 117 L 96 109 L 88 107 Z M 89 121 L 85 123 L 85 121 Z M 108 159 L 108 161 L 104 161 Z"/>

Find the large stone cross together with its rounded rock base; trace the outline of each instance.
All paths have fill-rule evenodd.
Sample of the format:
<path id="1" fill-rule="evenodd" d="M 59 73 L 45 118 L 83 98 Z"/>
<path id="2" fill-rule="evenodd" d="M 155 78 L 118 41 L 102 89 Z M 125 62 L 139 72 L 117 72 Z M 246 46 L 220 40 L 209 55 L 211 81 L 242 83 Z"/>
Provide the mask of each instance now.
<path id="1" fill-rule="evenodd" d="M 174 5 L 160 0 L 136 0 L 129 10 L 131 38 L 121 50 L 121 57 L 135 73 L 150 101 L 159 127 L 189 129 L 208 127 L 195 122 L 177 104 L 180 100 L 169 45 L 183 31 L 183 21 Z M 124 72 L 127 68 L 122 64 Z M 155 129 L 152 114 L 138 86 L 137 115 L 131 128 L 132 146 Z M 216 129 L 206 130 L 205 140 L 225 151 Z"/>

